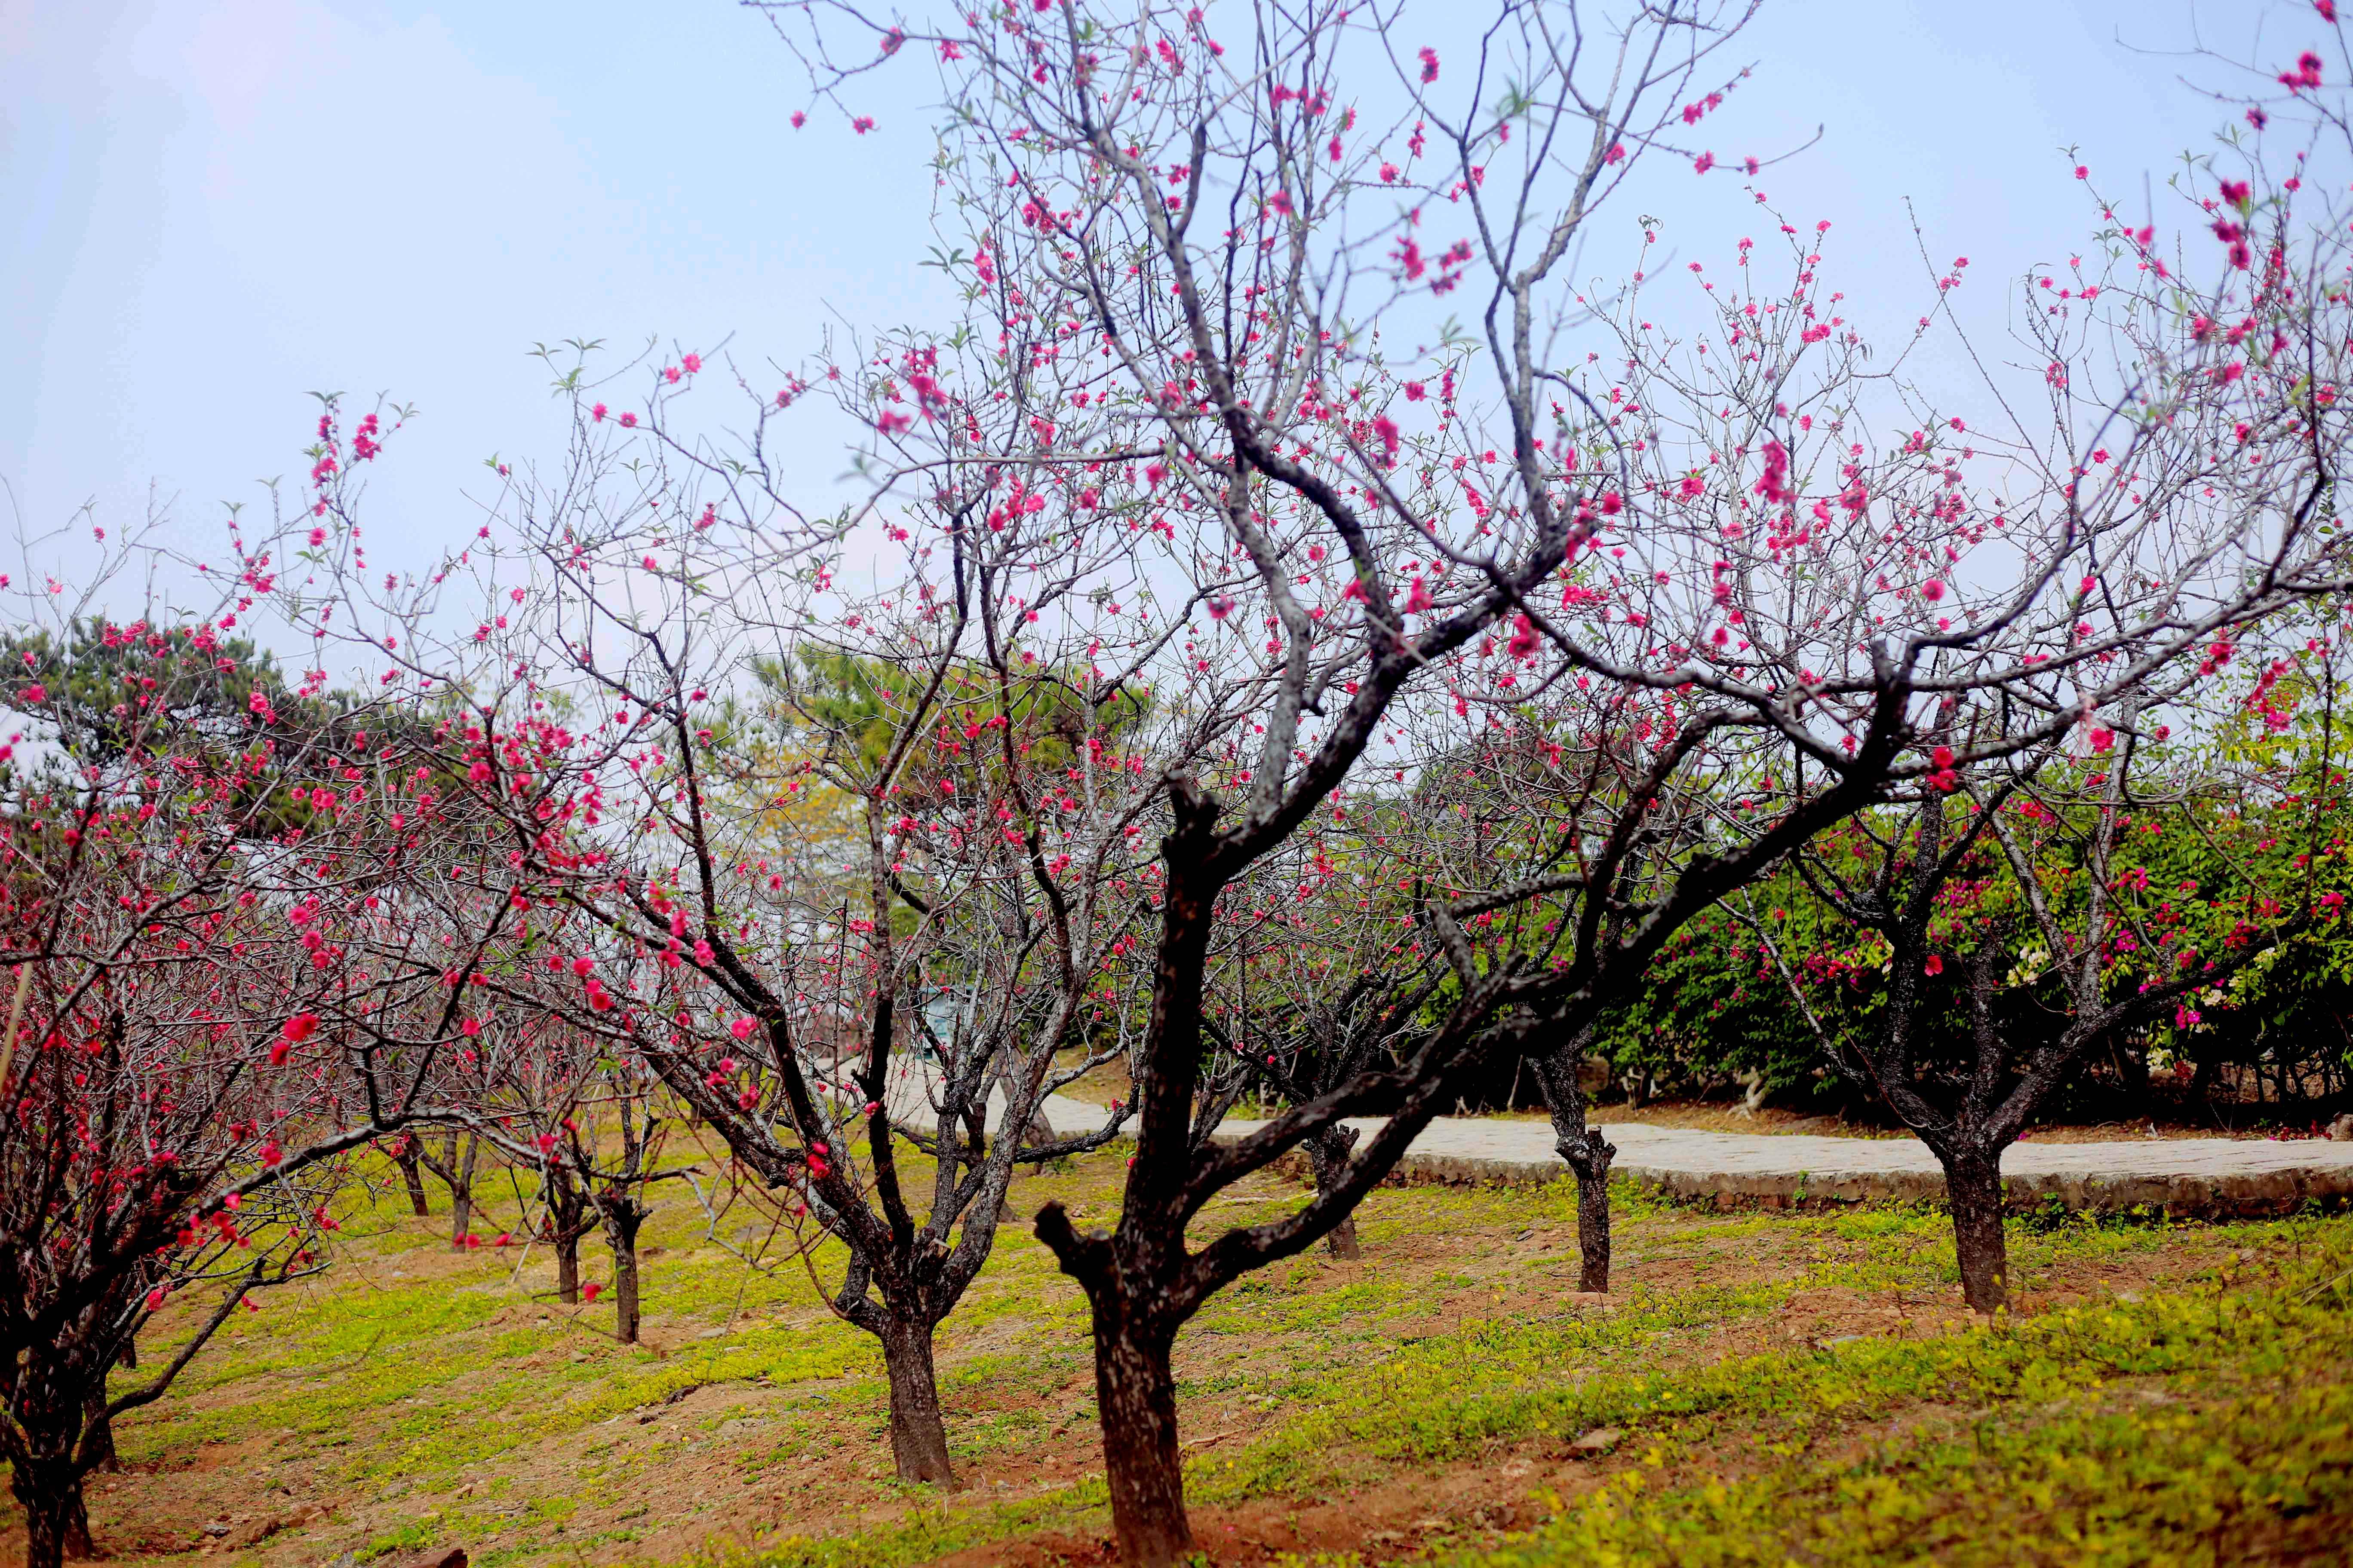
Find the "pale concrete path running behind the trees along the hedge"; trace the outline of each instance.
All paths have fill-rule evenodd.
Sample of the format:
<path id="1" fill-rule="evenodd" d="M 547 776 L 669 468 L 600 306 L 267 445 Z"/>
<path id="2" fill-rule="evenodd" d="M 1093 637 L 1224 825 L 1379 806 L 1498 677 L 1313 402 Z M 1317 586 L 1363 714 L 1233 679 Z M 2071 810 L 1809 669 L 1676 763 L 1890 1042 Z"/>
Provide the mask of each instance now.
<path id="1" fill-rule="evenodd" d="M 920 1077 L 892 1095 L 901 1119 L 927 1124 Z M 1000 1110 L 998 1105 L 991 1107 Z M 1104 1110 L 1049 1095 L 1056 1135 L 1104 1126 Z M 995 1117 L 993 1117 L 995 1119 Z M 1704 1133 L 1689 1128 L 1600 1124 L 1617 1145 L 1617 1173 L 1685 1199 L 1722 1206 L 1781 1208 L 1809 1201 L 1944 1199 L 1944 1171 L 1913 1138 L 1817 1138 L 1777 1133 Z M 1221 1138 L 1242 1138 L 1264 1121 L 1228 1119 Z M 1377 1119 L 1353 1121 L 1358 1128 Z M 1398 1178 L 1426 1182 L 1541 1185 L 1567 1173 L 1546 1121 L 1440 1117 L 1414 1138 Z M 2014 1206 L 2057 1197 L 2068 1208 L 2122 1213 L 2162 1208 L 2177 1215 L 2285 1213 L 2306 1199 L 2353 1199 L 2353 1143 L 2259 1138 L 2139 1138 L 2122 1143 L 2019 1143 L 2002 1154 Z"/>

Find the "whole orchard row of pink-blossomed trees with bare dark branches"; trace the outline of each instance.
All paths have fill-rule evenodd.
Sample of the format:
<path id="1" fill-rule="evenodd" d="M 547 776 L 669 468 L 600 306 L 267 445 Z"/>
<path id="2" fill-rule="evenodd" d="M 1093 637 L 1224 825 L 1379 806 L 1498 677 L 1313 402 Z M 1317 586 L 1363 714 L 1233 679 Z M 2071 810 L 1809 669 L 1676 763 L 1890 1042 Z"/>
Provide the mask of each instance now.
<path id="1" fill-rule="evenodd" d="M 2021 280 L 2021 374 L 1955 407 L 1904 367 L 1969 348 L 1965 261 L 1880 348 L 1762 190 L 1722 275 L 1652 221 L 1572 273 L 1628 183 L 1729 169 L 1746 7 L 1506 0 L 1445 59 L 1360 5 L 765 9 L 845 113 L 936 61 L 948 329 L 774 378 L 581 350 L 567 449 L 431 571 L 367 559 L 400 411 L 327 402 L 280 510 L 151 571 L 184 607 L 106 614 L 158 564 L 120 543 L 16 583 L 0 1446 L 35 1563 L 205 1338 L 111 1394 L 148 1316 L 322 1267 L 365 1150 L 539 1171 L 551 1234 L 616 1253 L 696 1164 L 840 1260 L 899 1472 L 953 1481 L 932 1338 L 1016 1171 L 1134 1138 L 1113 1227 L 1033 1225 L 1158 1566 L 1179 1328 L 1351 1246 L 1464 1072 L 1537 1067 L 1605 1284 L 1577 1063 L 1713 945 L 1929 1143 L 1993 1309 L 2000 1150 L 2054 1088 L 2318 950 L 2344 63 L 2254 78 L 2184 237 L 2097 205 Z M 812 404 L 861 430 L 833 512 L 781 456 Z M 1125 1103 L 1042 1133 L 1113 1063 Z M 1212 1138 L 1242 1095 L 1278 1110 Z M 1292 1152 L 1294 1213 L 1200 1218 Z"/>

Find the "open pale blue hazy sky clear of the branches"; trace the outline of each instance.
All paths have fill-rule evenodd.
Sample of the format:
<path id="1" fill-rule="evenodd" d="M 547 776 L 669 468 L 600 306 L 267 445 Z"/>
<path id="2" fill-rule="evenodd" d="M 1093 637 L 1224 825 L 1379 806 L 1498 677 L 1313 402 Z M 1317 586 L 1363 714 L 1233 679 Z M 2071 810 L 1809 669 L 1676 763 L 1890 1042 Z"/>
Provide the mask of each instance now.
<path id="1" fill-rule="evenodd" d="M 2209 38 L 2311 42 L 2306 7 L 2261 42 L 2242 16 L 2207 7 Z M 2219 113 L 2146 52 L 2191 21 L 2174 0 L 1767 5 L 1711 129 L 1737 158 L 1819 122 L 1767 186 L 1838 226 L 1835 287 L 1915 313 L 1908 200 L 1998 329 L 2002 277 L 2089 233 L 2061 148 L 2139 207 L 2144 172 L 2205 143 Z M 405 564 L 386 534 L 421 552 L 471 527 L 482 456 L 553 449 L 534 341 L 734 334 L 791 362 L 828 313 L 936 310 L 929 87 L 878 89 L 873 136 L 795 134 L 793 61 L 725 0 L 0 0 L 0 477 L 33 529 L 85 498 L 120 527 L 155 484 L 214 538 L 221 498 L 299 475 L 308 390 L 388 390 L 421 418 L 369 522 Z M 1737 181 L 1652 179 L 1619 221 L 1671 214 L 1687 254 L 1755 223 Z M 821 442 L 809 465 L 840 468 Z"/>

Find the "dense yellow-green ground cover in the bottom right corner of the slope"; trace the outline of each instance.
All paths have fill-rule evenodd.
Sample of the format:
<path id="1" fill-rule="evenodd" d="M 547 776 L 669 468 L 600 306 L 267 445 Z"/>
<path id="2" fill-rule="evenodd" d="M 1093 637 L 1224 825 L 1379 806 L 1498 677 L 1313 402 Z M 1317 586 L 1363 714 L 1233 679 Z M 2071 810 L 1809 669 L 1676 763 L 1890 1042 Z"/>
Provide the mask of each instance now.
<path id="1" fill-rule="evenodd" d="M 2344 1253 L 2322 1269 L 2344 1262 Z M 2353 1526 L 2346 1276 L 2054 1314 L 1939 1354 L 1767 1368 L 1678 1408 L 1762 1408 L 1784 1465 L 1657 1486 L 1628 1467 L 1548 1526 L 1459 1568 L 1586 1563 L 2242 1563 L 2344 1561 Z M 1842 1453 L 1842 1410 L 1925 1406 L 1915 1429 Z M 1704 1422 L 1645 1418 L 1689 1458 Z"/>

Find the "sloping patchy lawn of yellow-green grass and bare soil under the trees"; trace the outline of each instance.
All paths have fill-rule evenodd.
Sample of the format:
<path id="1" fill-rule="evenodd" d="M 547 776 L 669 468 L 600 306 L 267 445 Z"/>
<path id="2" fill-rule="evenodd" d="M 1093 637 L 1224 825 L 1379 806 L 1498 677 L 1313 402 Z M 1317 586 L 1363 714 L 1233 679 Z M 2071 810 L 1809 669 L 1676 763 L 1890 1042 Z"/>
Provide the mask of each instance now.
<path id="1" fill-rule="evenodd" d="M 1014 1208 L 1108 1218 L 1120 1168 L 1026 1180 Z M 1202 1225 L 1299 1197 L 1261 1178 Z M 546 1300 L 544 1251 L 353 1213 L 332 1274 L 259 1298 L 122 1422 L 101 1544 L 268 1568 L 449 1544 L 1106 1561 L 1085 1305 L 1024 1227 L 941 1331 L 965 1481 L 941 1497 L 889 1476 L 871 1340 L 798 1267 L 755 1274 L 682 1192 L 659 1201 L 635 1349 L 609 1307 Z M 478 1229 L 515 1220 L 508 1197 Z M 2344 1561 L 2353 1533 L 2353 1218 L 2017 1222 L 2000 1326 L 1967 1319 L 1944 1215 L 1918 1208 L 1621 1192 L 1609 1298 L 1572 1288 L 1567 1187 L 1388 1187 L 1362 1234 L 1362 1262 L 1266 1269 L 1179 1340 L 1214 1563 Z M 609 1279 L 598 1246 L 586 1274 Z"/>

